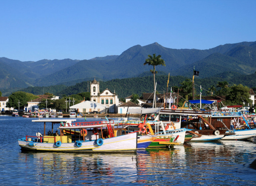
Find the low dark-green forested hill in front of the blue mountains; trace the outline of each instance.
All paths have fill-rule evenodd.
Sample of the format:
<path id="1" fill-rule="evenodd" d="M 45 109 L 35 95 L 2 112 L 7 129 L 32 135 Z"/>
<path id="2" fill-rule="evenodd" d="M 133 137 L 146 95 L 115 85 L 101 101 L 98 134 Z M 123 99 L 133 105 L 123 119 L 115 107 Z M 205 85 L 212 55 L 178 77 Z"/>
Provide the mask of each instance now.
<path id="1" fill-rule="evenodd" d="M 191 77 L 184 77 L 184 76 L 170 76 L 169 80 L 169 91 L 173 86 L 181 86 L 181 83 L 186 79 L 191 79 Z M 233 84 L 242 84 L 244 86 L 248 86 L 249 88 L 255 87 L 255 79 L 256 73 L 250 75 L 242 75 L 236 72 L 227 72 L 227 73 L 220 73 L 217 74 L 216 77 L 210 78 L 198 78 L 195 76 L 195 88 L 197 92 L 199 92 L 199 86 L 201 85 L 204 89 L 203 95 L 206 95 L 209 87 L 214 85 L 216 87 L 218 82 L 227 81 L 229 86 Z M 33 93 L 35 95 L 43 94 L 43 91 L 52 93 L 54 95 L 62 96 L 62 95 L 72 95 L 81 92 L 87 92 L 90 90 L 90 81 L 84 81 L 81 83 L 77 83 L 73 86 L 64 86 L 64 85 L 57 85 L 57 86 L 50 86 L 50 87 L 29 87 L 26 89 L 22 89 L 21 91 Z M 97 79 L 96 79 L 97 80 Z M 157 82 L 157 91 L 159 93 L 166 92 L 167 88 L 167 80 L 168 75 L 156 75 L 156 82 Z M 154 91 L 153 86 L 153 75 L 146 76 L 146 77 L 136 77 L 136 78 L 125 78 L 125 79 L 113 79 L 110 81 L 99 81 L 100 83 L 100 91 L 108 88 L 111 92 L 116 92 L 118 98 L 125 98 L 132 94 L 138 94 L 139 96 L 142 93 L 150 93 Z"/>

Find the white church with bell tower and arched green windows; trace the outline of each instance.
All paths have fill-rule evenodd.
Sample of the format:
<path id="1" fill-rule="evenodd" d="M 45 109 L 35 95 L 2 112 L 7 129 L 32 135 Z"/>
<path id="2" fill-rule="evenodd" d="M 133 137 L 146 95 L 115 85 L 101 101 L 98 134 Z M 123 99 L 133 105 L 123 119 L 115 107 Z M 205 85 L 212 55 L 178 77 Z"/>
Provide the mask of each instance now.
<path id="1" fill-rule="evenodd" d="M 90 96 L 91 101 L 95 101 L 106 106 L 105 111 L 102 112 L 117 113 L 119 99 L 118 95 L 115 93 L 115 90 L 114 93 L 112 93 L 110 90 L 105 89 L 100 93 L 99 82 L 96 81 L 95 78 L 92 82 L 90 82 Z"/>

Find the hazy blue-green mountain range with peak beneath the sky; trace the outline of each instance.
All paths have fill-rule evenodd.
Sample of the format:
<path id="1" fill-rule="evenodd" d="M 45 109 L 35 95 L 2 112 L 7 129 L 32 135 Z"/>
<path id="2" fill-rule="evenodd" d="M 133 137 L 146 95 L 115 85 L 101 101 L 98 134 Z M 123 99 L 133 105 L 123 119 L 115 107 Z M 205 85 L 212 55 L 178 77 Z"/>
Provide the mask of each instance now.
<path id="1" fill-rule="evenodd" d="M 225 44 L 205 50 L 172 49 L 153 43 L 132 46 L 120 55 L 89 60 L 19 61 L 0 57 L 0 90 L 7 94 L 29 86 L 71 86 L 94 78 L 108 81 L 148 76 L 153 67 L 143 63 L 153 53 L 160 54 L 166 63 L 166 66 L 156 66 L 156 70 L 172 76 L 191 77 L 193 67 L 199 71 L 199 78 L 225 73 L 249 75 L 256 71 L 256 42 Z"/>

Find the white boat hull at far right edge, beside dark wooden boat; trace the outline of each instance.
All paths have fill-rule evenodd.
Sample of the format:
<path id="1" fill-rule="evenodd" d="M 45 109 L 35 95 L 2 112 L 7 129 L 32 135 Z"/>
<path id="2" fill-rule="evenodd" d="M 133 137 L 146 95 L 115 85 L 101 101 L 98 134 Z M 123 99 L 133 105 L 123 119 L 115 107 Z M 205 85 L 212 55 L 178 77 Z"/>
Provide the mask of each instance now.
<path id="1" fill-rule="evenodd" d="M 234 130 L 234 132 L 234 135 L 225 136 L 221 140 L 243 140 L 256 136 L 256 129 Z"/>

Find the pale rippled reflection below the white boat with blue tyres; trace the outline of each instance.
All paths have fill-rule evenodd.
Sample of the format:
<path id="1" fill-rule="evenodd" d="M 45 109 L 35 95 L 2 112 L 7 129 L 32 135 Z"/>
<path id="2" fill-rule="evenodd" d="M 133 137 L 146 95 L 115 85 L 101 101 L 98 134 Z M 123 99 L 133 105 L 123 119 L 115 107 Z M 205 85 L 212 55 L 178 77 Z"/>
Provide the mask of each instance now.
<path id="1" fill-rule="evenodd" d="M 19 161 L 33 164 L 39 182 L 93 184 L 131 182 L 136 179 L 135 154 L 20 153 Z"/>

